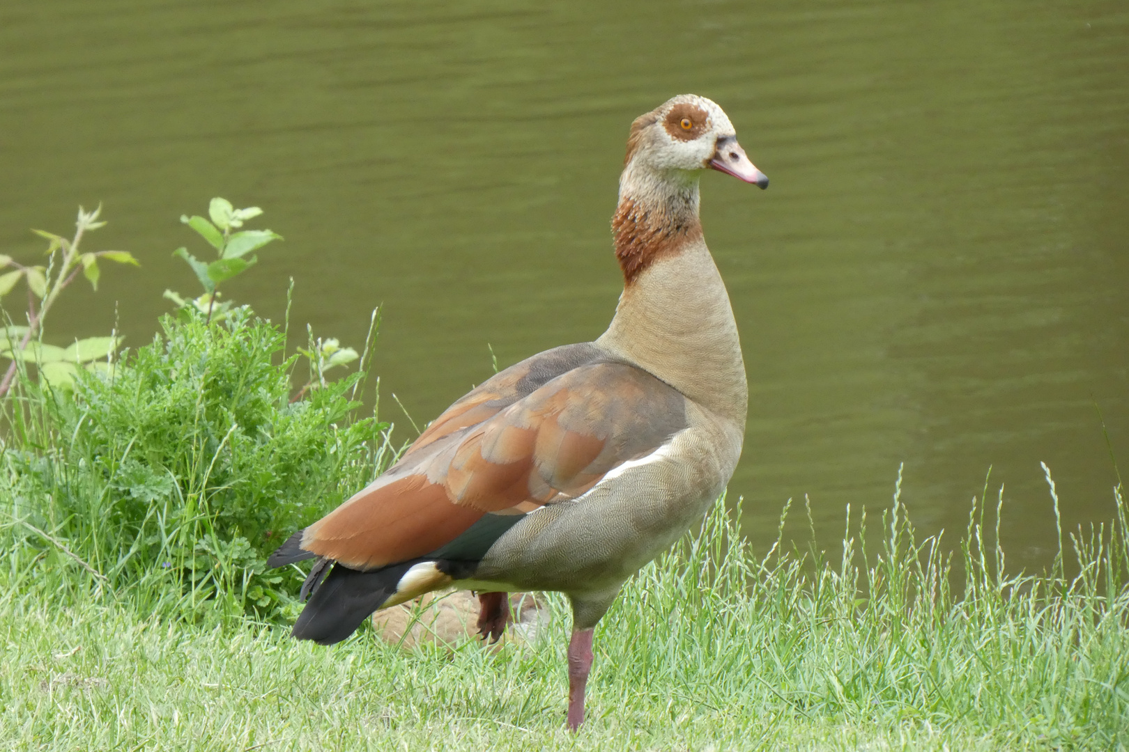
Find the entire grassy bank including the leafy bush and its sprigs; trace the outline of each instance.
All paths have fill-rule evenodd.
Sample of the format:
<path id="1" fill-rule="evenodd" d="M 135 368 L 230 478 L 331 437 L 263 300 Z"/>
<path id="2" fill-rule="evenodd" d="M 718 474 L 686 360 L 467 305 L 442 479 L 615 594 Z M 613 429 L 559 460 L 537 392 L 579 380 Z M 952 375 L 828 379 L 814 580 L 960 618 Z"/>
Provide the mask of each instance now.
<path id="1" fill-rule="evenodd" d="M 1007 569 L 982 499 L 952 547 L 918 540 L 896 493 L 870 536 L 848 512 L 833 560 L 758 555 L 721 501 L 604 618 L 578 736 L 559 599 L 535 642 L 497 653 L 403 653 L 368 628 L 294 642 L 303 574 L 265 555 L 395 448 L 360 412 L 371 336 L 361 355 L 313 334 L 288 352 L 288 322 L 217 302 L 277 236 L 237 230 L 257 209 L 210 211 L 185 222 L 218 260 L 177 251 L 205 294 L 168 293 L 174 315 L 133 351 L 42 343 L 52 291 L 91 268 L 77 246 L 96 213 L 49 236 L 60 266 L 9 272 L 33 304 L 0 342 L 0 747 L 1129 749 L 1120 495 L 1035 575 Z"/>

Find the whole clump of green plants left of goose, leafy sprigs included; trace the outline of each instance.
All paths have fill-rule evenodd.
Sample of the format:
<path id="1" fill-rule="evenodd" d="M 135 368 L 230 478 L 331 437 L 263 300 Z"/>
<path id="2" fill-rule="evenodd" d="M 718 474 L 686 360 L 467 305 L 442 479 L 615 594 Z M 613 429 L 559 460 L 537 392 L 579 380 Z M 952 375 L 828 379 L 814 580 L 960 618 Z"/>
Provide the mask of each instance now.
<path id="1" fill-rule="evenodd" d="M 292 608 L 297 570 L 265 570 L 279 533 L 367 485 L 394 451 L 391 426 L 375 413 L 360 417 L 356 400 L 375 312 L 366 356 L 312 334 L 308 350 L 288 356 L 285 328 L 246 306 L 216 302 L 218 285 L 279 237 L 238 229 L 259 213 L 217 198 L 211 221 L 185 218 L 220 256 L 203 264 L 177 251 L 205 293 L 164 317 L 152 343 L 124 353 L 113 378 L 107 363 L 87 366 L 116 350 L 116 335 L 14 347 L 27 330 L 2 333 L 0 352 L 36 363 L 51 386 L 69 379 L 72 389 L 18 371 L 18 390 L 0 400 L 8 423 L 0 511 L 18 531 L 0 550 L 40 551 L 60 572 L 78 564 L 72 585 L 130 592 L 156 611 L 272 617 Z M 94 216 L 80 214 L 79 236 Z M 348 375 L 325 377 L 358 360 Z M 301 361 L 310 379 L 291 399 Z"/>

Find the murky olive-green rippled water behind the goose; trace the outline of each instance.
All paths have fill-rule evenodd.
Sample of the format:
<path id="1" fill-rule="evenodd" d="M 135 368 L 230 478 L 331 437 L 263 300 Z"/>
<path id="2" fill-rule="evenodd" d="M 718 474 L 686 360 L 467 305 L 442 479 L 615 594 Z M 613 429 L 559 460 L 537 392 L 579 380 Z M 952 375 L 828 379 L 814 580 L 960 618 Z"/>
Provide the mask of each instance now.
<path id="1" fill-rule="evenodd" d="M 962 529 L 991 466 L 1017 565 L 1112 511 L 1129 457 L 1129 9 L 1119 2 L 141 2 L 0 7 L 0 253 L 99 201 L 137 255 L 49 340 L 147 342 L 213 195 L 285 244 L 230 294 L 359 346 L 386 417 L 597 336 L 628 125 L 693 91 L 772 179 L 704 176 L 751 407 L 732 490 L 765 540 L 885 504 Z M 91 248 L 93 249 L 93 248 Z M 198 249 L 200 250 L 200 249 Z M 16 304 L 15 299 L 8 300 Z M 1129 467 L 1127 463 L 1126 467 Z M 992 492 L 995 495 L 995 490 Z M 797 524 L 797 531 L 799 525 Z"/>

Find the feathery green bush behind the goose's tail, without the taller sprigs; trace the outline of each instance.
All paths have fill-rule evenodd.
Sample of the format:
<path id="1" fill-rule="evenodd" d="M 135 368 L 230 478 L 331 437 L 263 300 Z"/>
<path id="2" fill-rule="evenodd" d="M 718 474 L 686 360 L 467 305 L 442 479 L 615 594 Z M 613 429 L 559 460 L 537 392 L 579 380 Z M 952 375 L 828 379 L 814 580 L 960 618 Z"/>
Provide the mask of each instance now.
<path id="1" fill-rule="evenodd" d="M 113 379 L 81 372 L 65 398 L 30 392 L 42 414 L 24 427 L 50 436 L 21 443 L 54 451 L 7 452 L 14 495 L 40 499 L 19 514 L 115 587 L 148 583 L 190 612 L 217 602 L 269 616 L 296 576 L 265 570 L 279 533 L 370 481 L 390 426 L 355 417 L 359 372 L 291 402 L 299 355 L 280 360 L 282 331 L 246 307 L 219 326 L 163 327 Z"/>

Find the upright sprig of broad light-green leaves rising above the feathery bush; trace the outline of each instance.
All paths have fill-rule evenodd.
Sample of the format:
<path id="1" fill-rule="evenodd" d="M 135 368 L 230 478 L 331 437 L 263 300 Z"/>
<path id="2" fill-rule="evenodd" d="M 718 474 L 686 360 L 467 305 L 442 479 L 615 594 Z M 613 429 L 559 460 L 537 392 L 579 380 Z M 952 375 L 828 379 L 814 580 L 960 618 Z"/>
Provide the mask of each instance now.
<path id="1" fill-rule="evenodd" d="M 174 256 L 183 258 L 192 268 L 192 272 L 203 285 L 204 294 L 199 298 L 185 299 L 172 290 L 165 291 L 165 298 L 176 303 L 182 315 L 195 310 L 204 315 L 204 320 L 210 321 L 213 316 L 224 318 L 231 309 L 231 301 L 217 304 L 219 298 L 219 285 L 231 277 L 246 272 L 259 258 L 251 256 L 272 240 L 281 240 L 282 236 L 271 230 L 240 230 L 243 223 L 263 213 L 259 206 L 247 209 L 235 209 L 227 198 L 212 198 L 208 205 L 208 215 L 211 221 L 203 216 L 181 215 L 181 221 L 191 227 L 196 233 L 208 241 L 216 249 L 218 258 L 215 262 L 201 262 L 189 253 L 187 248 L 181 247 L 173 251 Z"/>

